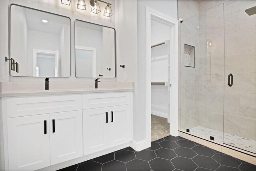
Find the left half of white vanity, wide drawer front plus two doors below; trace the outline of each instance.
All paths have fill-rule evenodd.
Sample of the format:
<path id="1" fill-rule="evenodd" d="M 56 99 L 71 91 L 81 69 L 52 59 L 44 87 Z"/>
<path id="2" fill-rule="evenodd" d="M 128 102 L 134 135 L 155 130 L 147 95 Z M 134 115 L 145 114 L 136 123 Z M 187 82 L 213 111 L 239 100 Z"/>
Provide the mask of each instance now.
<path id="1" fill-rule="evenodd" d="M 83 155 L 81 95 L 7 98 L 6 106 L 9 170 L 36 170 Z"/>

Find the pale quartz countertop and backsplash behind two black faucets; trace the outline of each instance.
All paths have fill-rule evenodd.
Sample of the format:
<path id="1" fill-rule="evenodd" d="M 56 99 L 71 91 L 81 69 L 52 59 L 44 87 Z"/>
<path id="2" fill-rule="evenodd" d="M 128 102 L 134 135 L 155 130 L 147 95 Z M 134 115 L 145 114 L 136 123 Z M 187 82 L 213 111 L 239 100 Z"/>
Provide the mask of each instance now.
<path id="1" fill-rule="evenodd" d="M 44 90 L 44 82 L 2 82 L 0 97 L 134 91 L 133 82 L 100 82 L 98 86 L 95 89 L 94 82 L 50 82 L 49 90 Z"/>

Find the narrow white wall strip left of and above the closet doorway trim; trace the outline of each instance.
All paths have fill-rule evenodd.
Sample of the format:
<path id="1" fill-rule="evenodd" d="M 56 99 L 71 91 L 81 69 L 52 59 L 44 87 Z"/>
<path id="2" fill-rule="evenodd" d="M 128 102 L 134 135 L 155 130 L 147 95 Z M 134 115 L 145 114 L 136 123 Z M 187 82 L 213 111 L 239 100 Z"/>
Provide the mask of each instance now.
<path id="1" fill-rule="evenodd" d="M 172 18 L 178 18 L 177 0 L 138 0 L 137 3 L 138 12 L 138 77 L 135 83 L 135 97 L 134 104 L 139 103 L 140 105 L 134 106 L 134 139 L 136 141 L 142 141 L 146 139 L 146 6 L 162 12 Z"/>

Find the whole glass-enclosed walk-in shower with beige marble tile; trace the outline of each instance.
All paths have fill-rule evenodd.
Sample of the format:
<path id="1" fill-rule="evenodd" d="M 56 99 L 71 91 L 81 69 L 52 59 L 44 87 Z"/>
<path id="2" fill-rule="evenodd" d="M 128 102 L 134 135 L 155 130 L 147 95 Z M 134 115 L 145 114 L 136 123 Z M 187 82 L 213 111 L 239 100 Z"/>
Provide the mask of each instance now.
<path id="1" fill-rule="evenodd" d="M 256 153 L 254 1 L 227 1 L 180 24 L 180 129 Z M 210 46 L 211 43 L 211 46 Z M 184 44 L 195 67 L 184 66 Z"/>

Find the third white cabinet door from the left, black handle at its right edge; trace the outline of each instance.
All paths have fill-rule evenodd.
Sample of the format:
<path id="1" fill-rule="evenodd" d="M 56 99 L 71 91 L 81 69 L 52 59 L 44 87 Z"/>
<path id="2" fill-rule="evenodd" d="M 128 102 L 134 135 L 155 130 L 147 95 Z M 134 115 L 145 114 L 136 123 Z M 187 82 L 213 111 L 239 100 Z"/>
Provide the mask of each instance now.
<path id="1" fill-rule="evenodd" d="M 107 107 L 83 110 L 84 155 L 108 148 L 110 115 L 106 112 Z"/>

